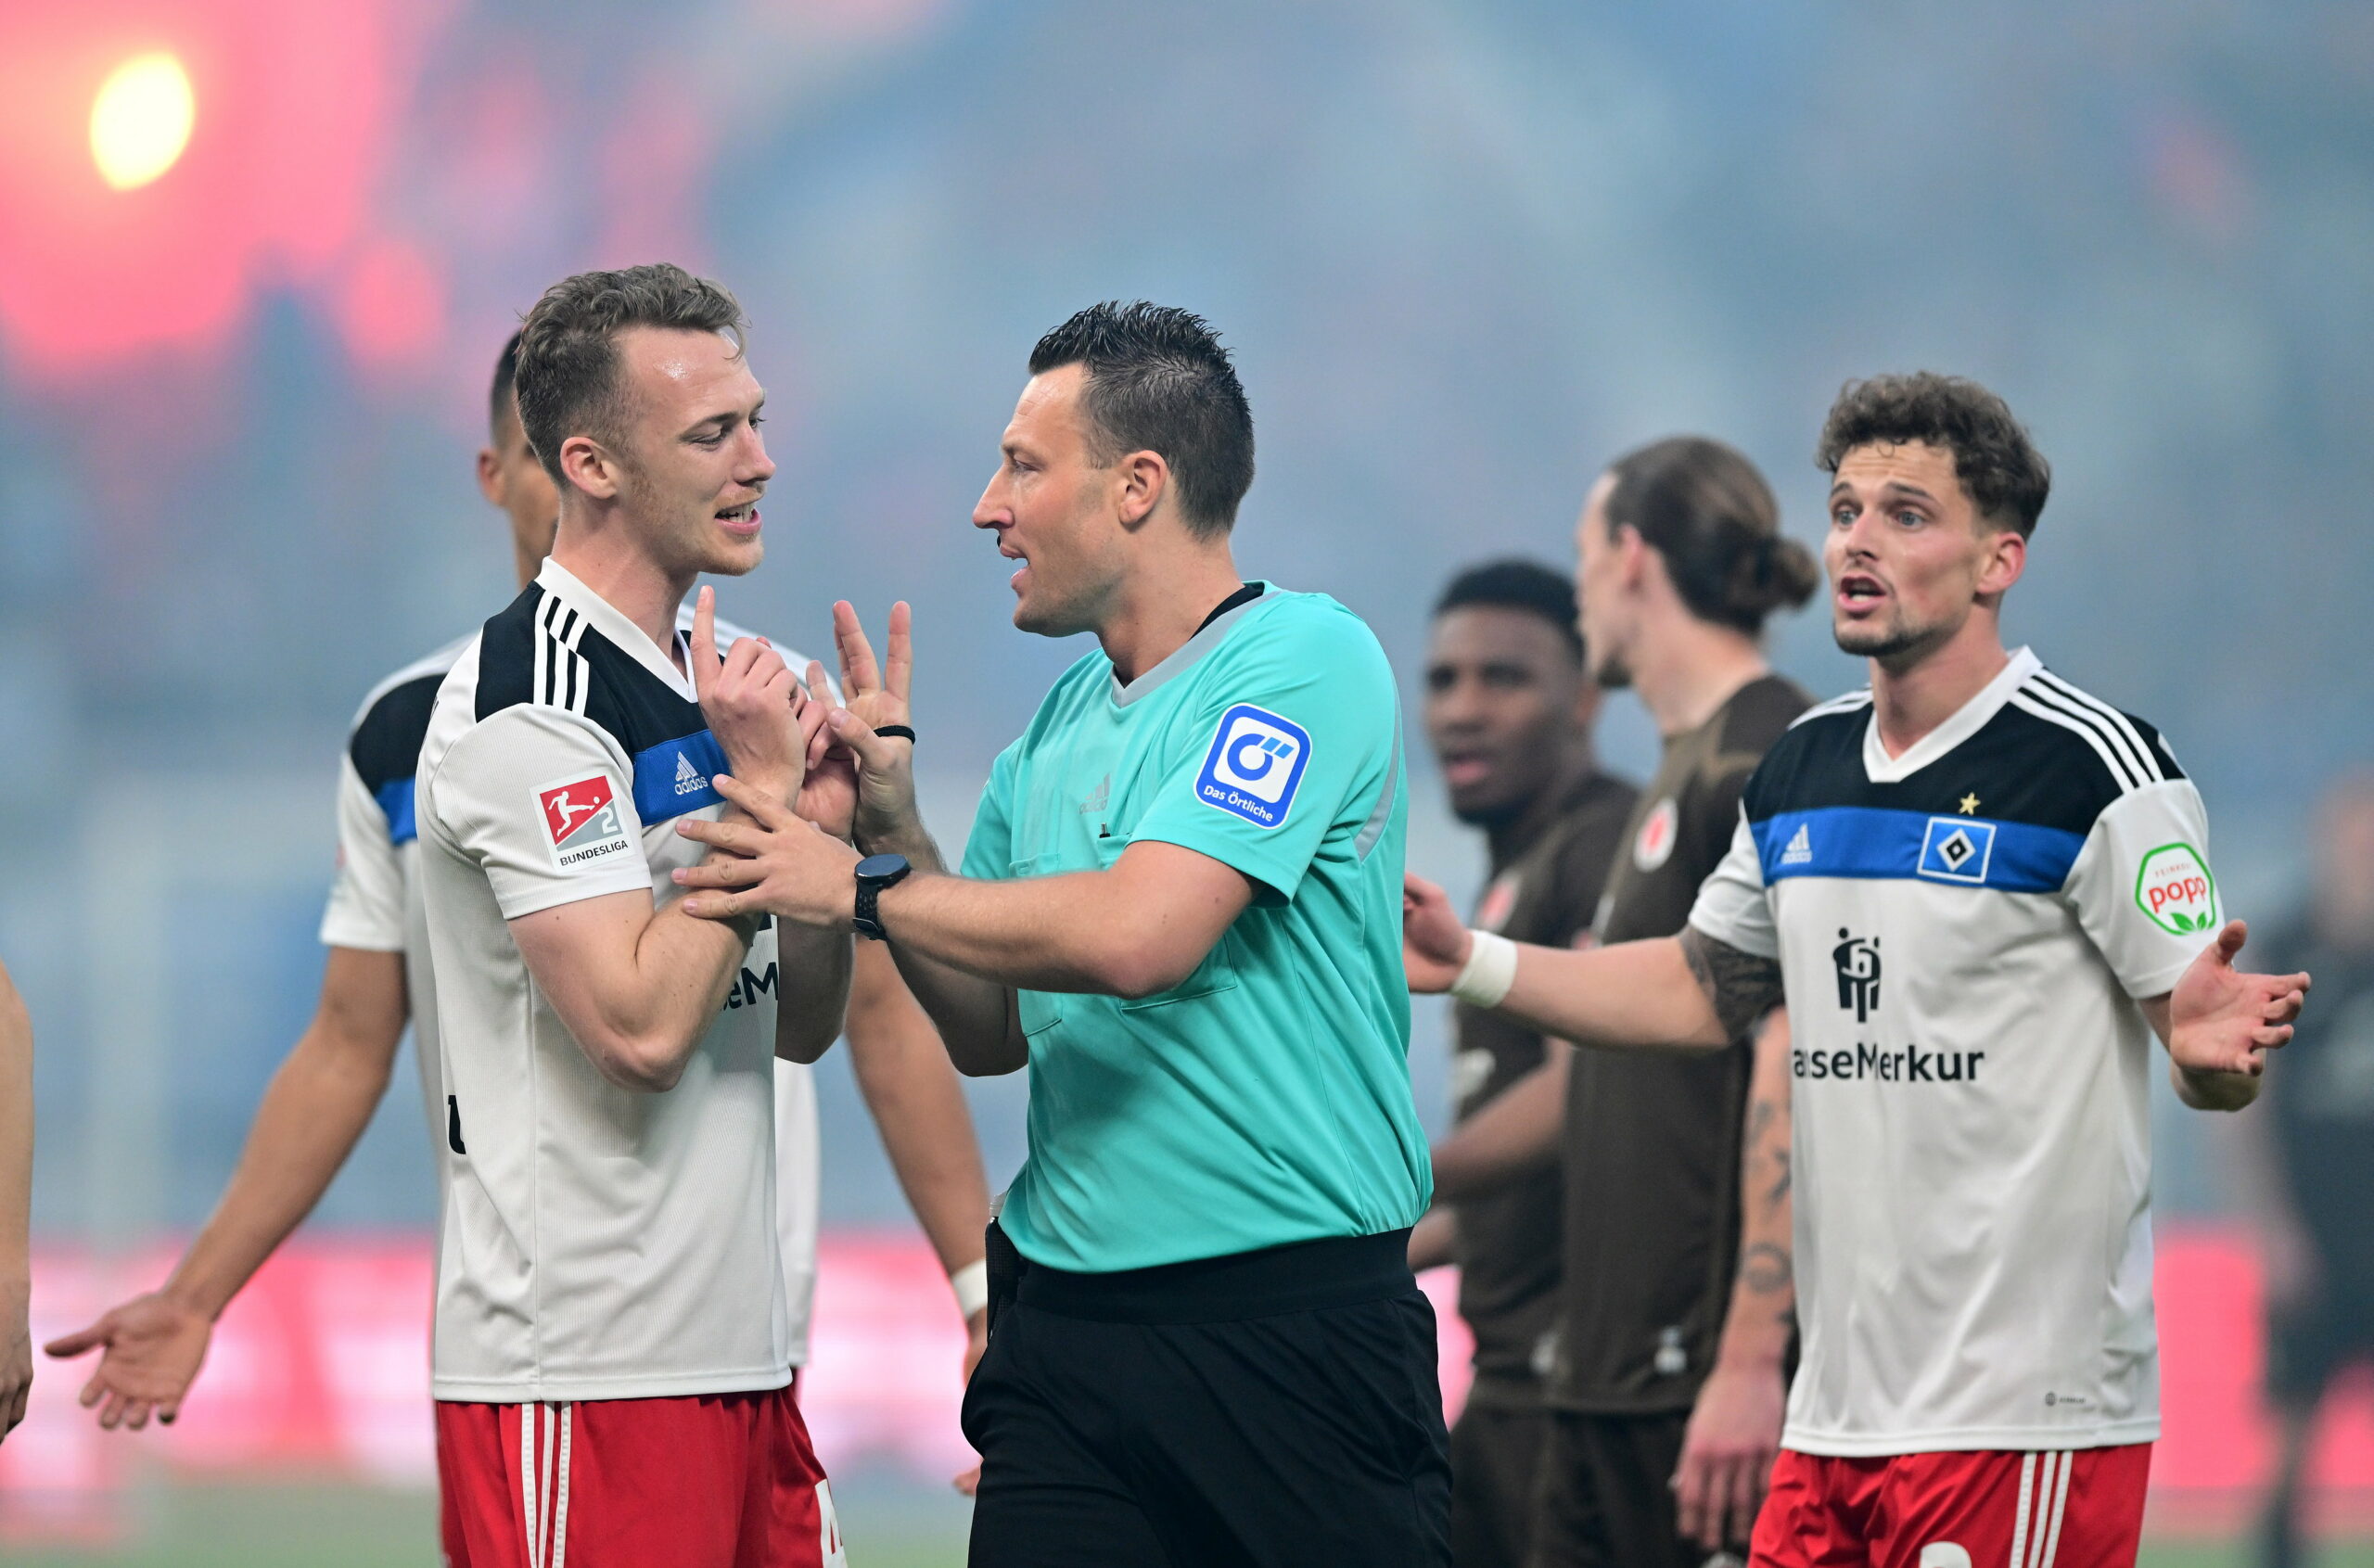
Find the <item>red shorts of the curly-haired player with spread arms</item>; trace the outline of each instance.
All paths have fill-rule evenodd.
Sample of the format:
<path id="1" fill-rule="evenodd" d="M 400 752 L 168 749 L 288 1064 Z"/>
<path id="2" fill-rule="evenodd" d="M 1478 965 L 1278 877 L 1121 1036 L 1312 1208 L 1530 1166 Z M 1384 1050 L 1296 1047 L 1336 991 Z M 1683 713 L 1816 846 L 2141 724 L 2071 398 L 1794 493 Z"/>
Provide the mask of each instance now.
<path id="1" fill-rule="evenodd" d="M 1752 1568 L 2132 1568 L 2151 1445 L 1826 1459 L 1780 1449 Z"/>

